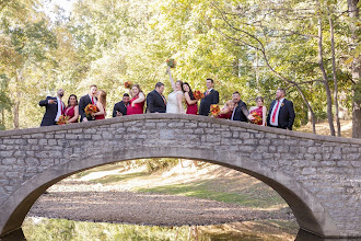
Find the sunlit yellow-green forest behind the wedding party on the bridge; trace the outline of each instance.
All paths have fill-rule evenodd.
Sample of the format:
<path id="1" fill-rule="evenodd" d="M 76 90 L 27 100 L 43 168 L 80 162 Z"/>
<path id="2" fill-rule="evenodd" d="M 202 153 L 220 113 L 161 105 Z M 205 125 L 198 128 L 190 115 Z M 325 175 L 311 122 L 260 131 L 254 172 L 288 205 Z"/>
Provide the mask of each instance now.
<path id="1" fill-rule="evenodd" d="M 205 90 L 216 80 L 223 104 L 240 91 L 269 106 L 277 88 L 295 106 L 295 126 L 352 118 L 361 138 L 359 0 L 0 0 L 0 128 L 39 126 L 38 102 L 58 88 L 80 97 L 95 83 L 107 112 L 125 81 L 147 94 L 174 77 Z"/>

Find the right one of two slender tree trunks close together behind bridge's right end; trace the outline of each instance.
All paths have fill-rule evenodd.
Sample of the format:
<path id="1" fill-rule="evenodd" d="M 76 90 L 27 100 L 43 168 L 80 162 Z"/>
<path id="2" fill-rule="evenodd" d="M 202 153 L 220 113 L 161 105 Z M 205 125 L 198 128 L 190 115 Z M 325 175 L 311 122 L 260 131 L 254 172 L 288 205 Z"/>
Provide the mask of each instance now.
<path id="1" fill-rule="evenodd" d="M 336 125 L 337 125 L 337 136 L 341 136 L 341 124 L 339 118 L 339 107 L 338 107 L 338 83 L 337 83 L 337 77 L 336 77 L 336 58 L 335 58 L 335 37 L 334 37 L 334 23 L 331 20 L 331 16 L 328 15 L 328 22 L 329 22 L 329 38 L 331 43 L 331 51 L 333 51 L 333 76 L 334 76 L 334 102 L 335 102 L 335 118 L 336 118 Z"/>

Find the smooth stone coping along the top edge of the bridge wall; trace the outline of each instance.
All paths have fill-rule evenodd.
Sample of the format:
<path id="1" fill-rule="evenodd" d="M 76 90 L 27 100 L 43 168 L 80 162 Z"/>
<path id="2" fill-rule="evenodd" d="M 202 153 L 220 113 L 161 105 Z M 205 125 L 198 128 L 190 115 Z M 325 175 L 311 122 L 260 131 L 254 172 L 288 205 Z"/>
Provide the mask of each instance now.
<path id="1" fill-rule="evenodd" d="M 106 119 L 96 120 L 96 122 L 73 123 L 73 124 L 60 125 L 60 126 L 45 126 L 45 127 L 36 127 L 36 128 L 27 128 L 27 129 L 2 130 L 2 131 L 0 131 L 0 138 L 30 135 L 30 134 L 39 134 L 39 133 L 51 133 L 51 131 L 61 131 L 61 130 L 71 130 L 71 129 L 92 128 L 92 127 L 96 127 L 96 126 L 112 125 L 112 124 L 116 124 L 116 123 L 127 123 L 127 122 L 144 120 L 144 119 L 149 119 L 149 120 L 152 120 L 152 119 L 153 120 L 155 120 L 155 119 L 195 120 L 195 122 L 201 122 L 201 123 L 211 123 L 211 124 L 220 124 L 220 125 L 225 125 L 225 126 L 241 127 L 241 128 L 245 128 L 245 129 L 249 129 L 249 130 L 258 130 L 258 131 L 263 131 L 263 133 L 284 135 L 284 136 L 303 138 L 303 139 L 361 145 L 361 139 L 334 137 L 334 136 L 322 136 L 322 135 L 315 135 L 315 134 L 311 134 L 311 133 L 291 131 L 291 130 L 286 130 L 286 129 L 258 126 L 258 125 L 254 125 L 254 124 L 249 124 L 249 123 L 232 122 L 232 120 L 222 119 L 222 118 L 211 118 L 208 116 L 185 115 L 185 114 L 165 114 L 165 113 L 130 115 L 130 116 L 121 116 L 121 117 L 116 117 L 116 118 L 106 118 Z"/>

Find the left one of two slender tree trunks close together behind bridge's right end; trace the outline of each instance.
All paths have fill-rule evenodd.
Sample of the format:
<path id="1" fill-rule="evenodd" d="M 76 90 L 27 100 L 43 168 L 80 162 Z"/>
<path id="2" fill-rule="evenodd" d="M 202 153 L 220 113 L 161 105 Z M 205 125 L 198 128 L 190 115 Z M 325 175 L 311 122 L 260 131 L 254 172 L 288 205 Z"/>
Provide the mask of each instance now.
<path id="1" fill-rule="evenodd" d="M 335 127 L 334 127 L 334 118 L 333 118 L 333 97 L 330 93 L 330 89 L 327 81 L 327 74 L 326 70 L 324 68 L 324 54 L 323 54 L 323 45 L 322 45 L 322 16 L 318 15 L 318 66 L 323 74 L 323 82 L 326 89 L 326 96 L 327 96 L 327 118 L 328 118 L 328 125 L 330 135 L 335 136 Z"/>

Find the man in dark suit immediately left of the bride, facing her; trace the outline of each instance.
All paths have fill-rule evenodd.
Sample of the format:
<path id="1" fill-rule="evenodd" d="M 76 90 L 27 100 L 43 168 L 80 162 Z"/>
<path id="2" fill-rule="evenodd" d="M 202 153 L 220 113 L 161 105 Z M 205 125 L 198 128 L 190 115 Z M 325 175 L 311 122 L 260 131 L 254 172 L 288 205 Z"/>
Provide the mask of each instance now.
<path id="1" fill-rule="evenodd" d="M 150 113 L 165 113 L 166 100 L 163 91 L 164 83 L 158 82 L 155 89 L 147 95 L 147 108 Z"/>

